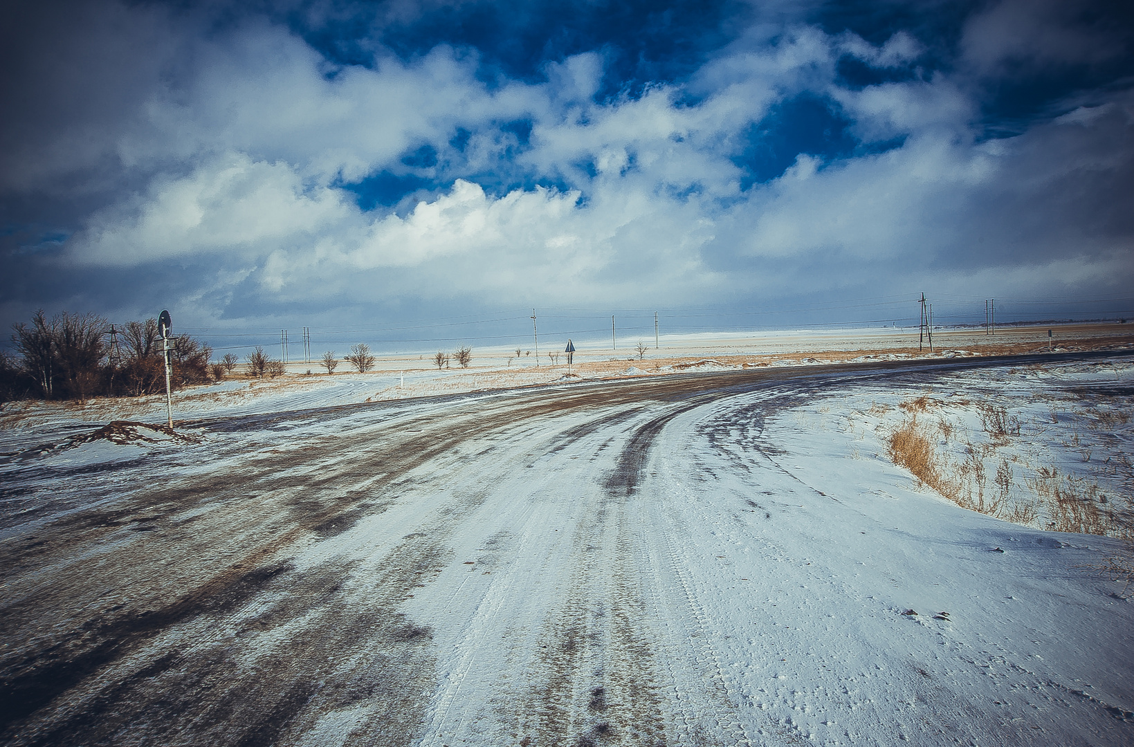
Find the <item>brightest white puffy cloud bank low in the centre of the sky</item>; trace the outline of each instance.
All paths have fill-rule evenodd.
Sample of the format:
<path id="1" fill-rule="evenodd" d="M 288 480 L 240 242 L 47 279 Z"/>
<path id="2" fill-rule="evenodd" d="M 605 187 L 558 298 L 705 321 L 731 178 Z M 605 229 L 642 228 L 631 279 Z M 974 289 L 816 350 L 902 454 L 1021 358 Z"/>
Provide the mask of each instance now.
<path id="1" fill-rule="evenodd" d="M 536 188 L 499 198 L 457 180 L 405 218 L 353 222 L 314 246 L 277 249 L 259 281 L 285 297 L 362 299 L 375 290 L 423 298 L 595 303 L 618 294 L 694 297 L 721 278 L 700 249 L 710 226 L 688 205 L 649 194 Z"/>

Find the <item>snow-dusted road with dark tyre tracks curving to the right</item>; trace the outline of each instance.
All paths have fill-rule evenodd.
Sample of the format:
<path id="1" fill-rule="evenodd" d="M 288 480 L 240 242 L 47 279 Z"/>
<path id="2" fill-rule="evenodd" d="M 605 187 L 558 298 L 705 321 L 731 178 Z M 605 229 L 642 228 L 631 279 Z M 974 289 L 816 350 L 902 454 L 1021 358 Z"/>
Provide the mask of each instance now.
<path id="1" fill-rule="evenodd" d="M 981 644 L 949 633 L 956 655 L 917 667 L 887 653 L 892 610 L 861 606 L 878 589 L 846 569 L 931 570 L 854 544 L 878 521 L 793 474 L 764 430 L 816 397 L 1012 363 L 289 411 L 184 424 L 201 443 L 144 461 L 22 457 L 2 486 L 0 741 L 1027 744 L 1031 724 L 964 697 Z M 1018 682 L 1058 678 L 1027 667 Z M 932 705 L 914 718 L 909 698 Z M 1129 737 L 1122 704 L 1059 698 L 1081 723 L 1042 721 L 1051 739 Z"/>

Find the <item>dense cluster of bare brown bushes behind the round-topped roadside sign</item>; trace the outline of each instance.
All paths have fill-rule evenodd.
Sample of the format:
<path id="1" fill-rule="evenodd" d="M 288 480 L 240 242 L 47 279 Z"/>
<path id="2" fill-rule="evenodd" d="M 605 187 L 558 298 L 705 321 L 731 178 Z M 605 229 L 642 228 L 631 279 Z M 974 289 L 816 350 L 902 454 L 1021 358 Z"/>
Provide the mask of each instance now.
<path id="1" fill-rule="evenodd" d="M 98 314 L 64 312 L 51 319 L 36 312 L 31 323 L 12 325 L 14 354 L 0 350 L 0 402 L 12 399 L 86 399 L 163 391 L 158 320 L 127 322 L 117 330 Z M 212 348 L 188 334 L 169 339 L 170 385 L 180 389 L 223 375 L 210 367 Z M 213 372 L 212 368 L 219 371 Z"/>

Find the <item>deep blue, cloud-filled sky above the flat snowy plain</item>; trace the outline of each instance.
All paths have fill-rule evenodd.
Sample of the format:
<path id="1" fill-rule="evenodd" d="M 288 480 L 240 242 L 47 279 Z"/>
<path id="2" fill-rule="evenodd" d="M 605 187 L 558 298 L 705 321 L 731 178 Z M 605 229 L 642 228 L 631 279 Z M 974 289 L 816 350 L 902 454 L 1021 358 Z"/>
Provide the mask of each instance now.
<path id="1" fill-rule="evenodd" d="M 1128 3 L 46 1 L 0 58 L 6 329 L 1134 315 Z"/>

